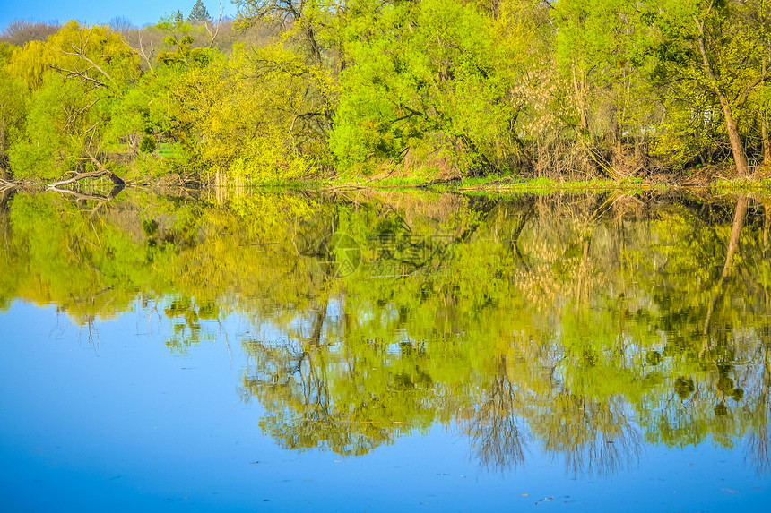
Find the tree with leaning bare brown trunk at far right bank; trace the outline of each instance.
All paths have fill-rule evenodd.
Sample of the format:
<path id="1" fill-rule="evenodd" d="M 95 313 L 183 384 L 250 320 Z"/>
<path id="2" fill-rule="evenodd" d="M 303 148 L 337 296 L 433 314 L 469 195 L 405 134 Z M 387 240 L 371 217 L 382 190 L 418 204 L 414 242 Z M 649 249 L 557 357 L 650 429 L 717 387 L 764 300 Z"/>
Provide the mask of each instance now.
<path id="1" fill-rule="evenodd" d="M 752 117 L 748 100 L 771 73 L 764 64 L 765 17 L 752 13 L 758 4 L 738 0 L 649 0 L 640 9 L 640 20 L 648 26 L 652 41 L 652 77 L 663 90 L 664 102 L 690 111 L 691 119 L 722 115 L 736 171 L 741 176 L 749 175 L 741 124 Z M 714 98 L 713 105 L 698 98 Z M 693 105 L 701 107 L 694 110 Z"/>

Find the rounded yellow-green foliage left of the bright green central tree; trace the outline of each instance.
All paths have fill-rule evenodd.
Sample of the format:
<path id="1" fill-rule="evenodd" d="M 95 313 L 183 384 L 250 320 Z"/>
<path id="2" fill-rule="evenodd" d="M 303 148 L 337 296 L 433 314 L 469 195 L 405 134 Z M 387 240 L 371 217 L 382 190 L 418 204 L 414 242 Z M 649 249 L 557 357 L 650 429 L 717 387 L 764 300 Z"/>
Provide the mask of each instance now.
<path id="1" fill-rule="evenodd" d="M 190 150 L 207 171 L 236 178 L 290 179 L 307 175 L 321 158 L 305 119 L 308 90 L 325 87 L 281 46 L 237 48 L 229 60 L 183 73 L 174 90 L 177 117 L 195 129 Z M 322 108 L 322 107 L 318 107 Z"/>

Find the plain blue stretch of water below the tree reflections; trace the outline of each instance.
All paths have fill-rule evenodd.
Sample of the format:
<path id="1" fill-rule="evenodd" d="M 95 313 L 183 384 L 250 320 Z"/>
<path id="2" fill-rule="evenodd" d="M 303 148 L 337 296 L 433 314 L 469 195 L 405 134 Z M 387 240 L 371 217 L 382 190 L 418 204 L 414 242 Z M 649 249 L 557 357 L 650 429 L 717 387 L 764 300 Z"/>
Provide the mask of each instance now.
<path id="1" fill-rule="evenodd" d="M 168 320 L 139 304 L 87 328 L 54 306 L 0 314 L 0 509 L 4 511 L 767 511 L 771 476 L 742 440 L 643 444 L 610 475 L 576 474 L 531 440 L 524 466 L 472 457 L 453 425 L 360 457 L 281 449 L 238 394 L 249 325 L 169 351 Z M 228 333 L 226 343 L 224 333 Z"/>

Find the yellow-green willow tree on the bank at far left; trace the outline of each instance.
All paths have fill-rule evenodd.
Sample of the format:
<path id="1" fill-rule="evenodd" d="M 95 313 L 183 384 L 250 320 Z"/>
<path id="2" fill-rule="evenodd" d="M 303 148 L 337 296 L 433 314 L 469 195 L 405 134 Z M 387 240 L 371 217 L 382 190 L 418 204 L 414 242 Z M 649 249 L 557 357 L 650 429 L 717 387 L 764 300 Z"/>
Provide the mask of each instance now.
<path id="1" fill-rule="evenodd" d="M 26 129 L 9 150 L 14 174 L 55 178 L 87 162 L 115 182 L 100 162 L 102 136 L 112 107 L 139 73 L 138 56 L 120 34 L 71 21 L 45 43 L 14 51 L 9 70 L 31 94 Z"/>

